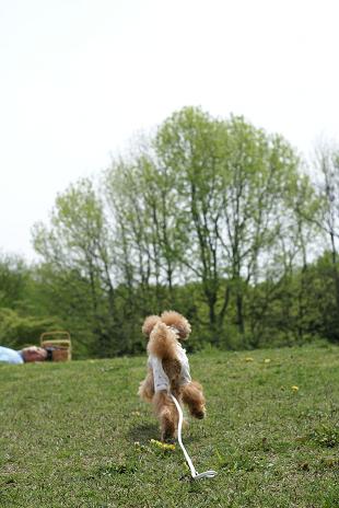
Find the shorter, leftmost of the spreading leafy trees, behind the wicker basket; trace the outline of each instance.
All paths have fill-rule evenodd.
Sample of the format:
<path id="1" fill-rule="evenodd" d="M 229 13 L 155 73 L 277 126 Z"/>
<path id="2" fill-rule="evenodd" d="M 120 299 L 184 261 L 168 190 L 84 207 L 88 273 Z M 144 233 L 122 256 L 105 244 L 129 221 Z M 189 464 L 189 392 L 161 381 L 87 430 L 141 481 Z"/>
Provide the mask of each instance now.
<path id="1" fill-rule="evenodd" d="M 59 195 L 48 229 L 35 226 L 34 246 L 44 263 L 50 305 L 71 322 L 78 336 L 95 342 L 98 356 L 118 350 L 112 344 L 115 288 L 110 239 L 103 205 L 93 183 L 81 180 Z M 75 323 L 73 315 L 81 316 Z"/>

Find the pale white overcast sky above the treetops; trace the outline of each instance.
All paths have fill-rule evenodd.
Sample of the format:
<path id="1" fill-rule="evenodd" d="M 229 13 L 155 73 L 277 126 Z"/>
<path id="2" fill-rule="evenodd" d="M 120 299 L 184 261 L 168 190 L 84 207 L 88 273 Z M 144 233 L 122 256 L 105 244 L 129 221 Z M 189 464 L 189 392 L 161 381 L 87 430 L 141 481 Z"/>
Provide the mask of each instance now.
<path id="1" fill-rule="evenodd" d="M 337 0 L 0 0 L 0 254 L 184 106 L 339 138 Z"/>

